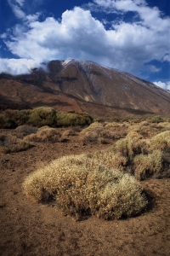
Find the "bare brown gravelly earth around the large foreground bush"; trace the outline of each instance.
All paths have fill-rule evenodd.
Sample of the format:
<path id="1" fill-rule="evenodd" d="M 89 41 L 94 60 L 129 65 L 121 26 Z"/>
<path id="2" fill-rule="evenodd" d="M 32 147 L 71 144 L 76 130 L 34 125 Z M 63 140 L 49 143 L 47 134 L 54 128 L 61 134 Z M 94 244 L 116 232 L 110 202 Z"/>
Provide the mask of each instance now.
<path id="1" fill-rule="evenodd" d="M 28 200 L 22 183 L 50 160 L 111 145 L 83 144 L 76 136 L 67 143 L 35 145 L 24 152 L 0 154 L 0 255 L 170 255 L 170 179 L 141 182 L 150 205 L 140 216 L 76 221 L 63 216 L 53 204 Z"/>

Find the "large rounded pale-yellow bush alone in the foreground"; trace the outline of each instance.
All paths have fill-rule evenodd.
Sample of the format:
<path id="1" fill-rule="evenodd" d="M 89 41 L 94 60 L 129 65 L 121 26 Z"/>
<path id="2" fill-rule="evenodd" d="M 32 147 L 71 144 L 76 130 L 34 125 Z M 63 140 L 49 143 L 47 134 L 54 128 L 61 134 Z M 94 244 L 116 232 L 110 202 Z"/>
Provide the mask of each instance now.
<path id="1" fill-rule="evenodd" d="M 33 201 L 54 198 L 63 212 L 82 218 L 115 219 L 139 213 L 147 205 L 134 177 L 99 164 L 86 155 L 65 156 L 26 178 L 26 195 Z"/>

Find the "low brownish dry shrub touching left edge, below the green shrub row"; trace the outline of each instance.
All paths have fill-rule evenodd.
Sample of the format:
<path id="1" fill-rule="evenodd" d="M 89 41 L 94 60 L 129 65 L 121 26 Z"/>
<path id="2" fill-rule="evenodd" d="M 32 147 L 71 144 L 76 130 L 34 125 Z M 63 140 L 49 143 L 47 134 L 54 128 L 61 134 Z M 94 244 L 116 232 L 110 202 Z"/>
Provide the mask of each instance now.
<path id="1" fill-rule="evenodd" d="M 0 147 L 1 152 L 10 153 L 10 152 L 20 152 L 31 148 L 31 143 L 27 143 L 20 138 L 12 135 L 1 134 L 0 135 Z"/>

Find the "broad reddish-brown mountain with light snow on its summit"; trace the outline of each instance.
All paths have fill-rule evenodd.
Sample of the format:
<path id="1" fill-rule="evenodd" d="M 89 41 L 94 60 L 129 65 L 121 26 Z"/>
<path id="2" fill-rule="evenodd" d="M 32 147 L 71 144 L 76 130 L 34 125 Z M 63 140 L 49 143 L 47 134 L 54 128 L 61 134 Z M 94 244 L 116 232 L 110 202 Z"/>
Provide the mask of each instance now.
<path id="1" fill-rule="evenodd" d="M 132 74 L 91 61 L 50 61 L 31 74 L 0 74 L 0 102 L 101 113 L 170 113 L 170 94 Z"/>

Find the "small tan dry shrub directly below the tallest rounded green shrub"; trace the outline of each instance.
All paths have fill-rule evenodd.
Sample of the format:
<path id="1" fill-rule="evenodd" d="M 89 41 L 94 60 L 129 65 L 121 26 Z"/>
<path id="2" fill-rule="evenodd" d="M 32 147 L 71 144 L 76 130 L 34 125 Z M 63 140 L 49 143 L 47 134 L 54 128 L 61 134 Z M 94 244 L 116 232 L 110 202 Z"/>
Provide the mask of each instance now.
<path id="1" fill-rule="evenodd" d="M 35 143 L 57 143 L 61 137 L 59 131 L 55 128 L 47 128 L 37 131 L 36 134 L 26 136 L 26 141 Z"/>

